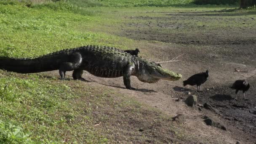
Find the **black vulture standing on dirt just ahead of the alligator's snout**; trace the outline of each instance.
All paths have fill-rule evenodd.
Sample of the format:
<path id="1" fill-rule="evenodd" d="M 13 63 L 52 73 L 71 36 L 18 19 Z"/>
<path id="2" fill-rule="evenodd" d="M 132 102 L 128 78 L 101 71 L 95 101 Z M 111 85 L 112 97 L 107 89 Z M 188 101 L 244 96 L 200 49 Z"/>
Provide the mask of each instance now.
<path id="1" fill-rule="evenodd" d="M 183 81 L 183 85 L 197 85 L 197 91 L 201 90 L 201 85 L 205 83 L 207 80 L 207 77 L 209 76 L 209 71 L 206 70 L 206 72 L 198 73 L 195 75 L 192 75 L 187 80 Z"/>

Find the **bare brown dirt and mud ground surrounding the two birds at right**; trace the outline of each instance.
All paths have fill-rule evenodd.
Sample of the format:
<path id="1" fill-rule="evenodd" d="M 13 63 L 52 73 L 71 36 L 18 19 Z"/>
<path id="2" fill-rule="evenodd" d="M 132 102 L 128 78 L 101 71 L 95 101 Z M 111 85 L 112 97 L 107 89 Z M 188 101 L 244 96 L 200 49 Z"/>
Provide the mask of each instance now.
<path id="1" fill-rule="evenodd" d="M 228 20 L 227 16 L 229 16 Z M 256 18 L 255 15 L 253 16 Z M 85 72 L 83 77 L 90 81 L 91 85 L 111 88 L 113 91 L 160 109 L 170 116 L 184 114 L 186 123 L 176 127 L 184 131 L 184 136 L 180 139 L 187 136 L 186 139 L 189 141 L 180 141 L 180 143 L 235 144 L 237 141 L 241 144 L 256 143 L 256 115 L 249 112 L 249 109 L 256 107 L 256 29 L 250 26 L 220 26 L 219 30 L 204 28 L 207 27 L 207 21 L 243 23 L 253 19 L 246 15 L 237 17 L 234 14 L 232 17 L 232 14 L 220 12 L 163 13 L 162 17 L 141 13 L 141 16 L 124 15 L 123 17 L 136 21 L 143 19 L 143 22 L 124 21 L 122 27 L 117 27 L 118 32 L 112 34 L 137 40 L 141 53 L 150 53 L 155 61 L 165 61 L 184 53 L 180 58 L 181 62 L 163 64 L 163 67 L 181 73 L 183 78 L 174 82 L 160 80 L 158 83 L 148 84 L 132 77 L 131 85 L 137 88 L 137 91 L 131 91 L 125 89 L 123 77 L 99 78 Z M 192 31 L 171 33 L 173 29 L 192 27 L 189 23 L 176 24 L 177 19 L 206 21 L 206 25 L 197 27 L 199 30 L 195 33 Z M 248 72 L 235 72 L 235 68 Z M 183 80 L 206 69 L 209 69 L 210 76 L 203 84 L 203 92 L 199 93 L 195 87 L 182 85 Z M 70 73 L 69 77 L 71 77 Z M 238 93 L 238 100 L 235 101 L 235 91 L 229 88 L 238 79 L 247 79 L 251 84 L 251 88 L 245 93 L 246 101 L 243 100 L 242 92 Z M 217 112 L 207 109 L 200 111 L 197 108 L 187 107 L 183 101 L 176 101 L 181 96 L 185 99 L 189 96 L 188 92 L 197 95 L 200 104 L 211 104 Z M 204 115 L 222 121 L 227 126 L 227 131 L 205 125 L 202 118 Z M 120 136 L 119 138 L 117 136 L 116 141 L 129 142 Z M 171 140 L 165 142 L 172 143 Z"/>

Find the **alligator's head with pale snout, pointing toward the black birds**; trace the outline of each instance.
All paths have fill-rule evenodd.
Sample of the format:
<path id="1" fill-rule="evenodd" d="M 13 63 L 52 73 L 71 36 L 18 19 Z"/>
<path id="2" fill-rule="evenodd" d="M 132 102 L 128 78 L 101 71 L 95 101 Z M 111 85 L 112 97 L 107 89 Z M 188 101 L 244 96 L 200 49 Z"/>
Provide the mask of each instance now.
<path id="1" fill-rule="evenodd" d="M 179 80 L 182 75 L 164 69 L 160 64 L 148 62 L 146 60 L 139 62 L 136 76 L 144 83 L 156 83 L 158 80 Z"/>

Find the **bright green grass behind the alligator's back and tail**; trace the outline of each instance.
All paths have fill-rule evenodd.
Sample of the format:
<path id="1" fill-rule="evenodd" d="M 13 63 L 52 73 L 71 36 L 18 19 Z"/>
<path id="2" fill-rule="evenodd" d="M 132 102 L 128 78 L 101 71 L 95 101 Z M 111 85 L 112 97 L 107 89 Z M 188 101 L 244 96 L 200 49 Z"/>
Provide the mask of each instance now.
<path id="1" fill-rule="evenodd" d="M 39 56 L 81 45 L 127 48 L 133 43 L 115 35 L 88 31 L 89 25 L 99 24 L 99 16 L 75 14 L 72 8 L 71 12 L 53 9 L 48 5 L 33 8 L 22 4 L 0 5 L 0 55 Z"/>

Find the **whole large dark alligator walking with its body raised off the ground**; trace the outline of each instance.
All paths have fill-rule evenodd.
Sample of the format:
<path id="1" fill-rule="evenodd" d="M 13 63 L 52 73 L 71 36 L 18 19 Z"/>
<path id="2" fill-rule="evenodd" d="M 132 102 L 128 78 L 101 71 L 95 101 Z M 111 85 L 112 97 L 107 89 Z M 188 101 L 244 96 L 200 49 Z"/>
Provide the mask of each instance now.
<path id="1" fill-rule="evenodd" d="M 87 45 L 66 49 L 36 58 L 0 57 L 0 69 L 19 73 L 35 73 L 58 70 L 63 80 L 66 71 L 74 70 L 74 80 L 84 80 L 83 70 L 97 77 L 122 77 L 125 87 L 134 89 L 130 77 L 134 75 L 145 83 L 158 80 L 179 80 L 182 75 L 163 69 L 160 64 L 148 62 L 117 48 Z"/>

